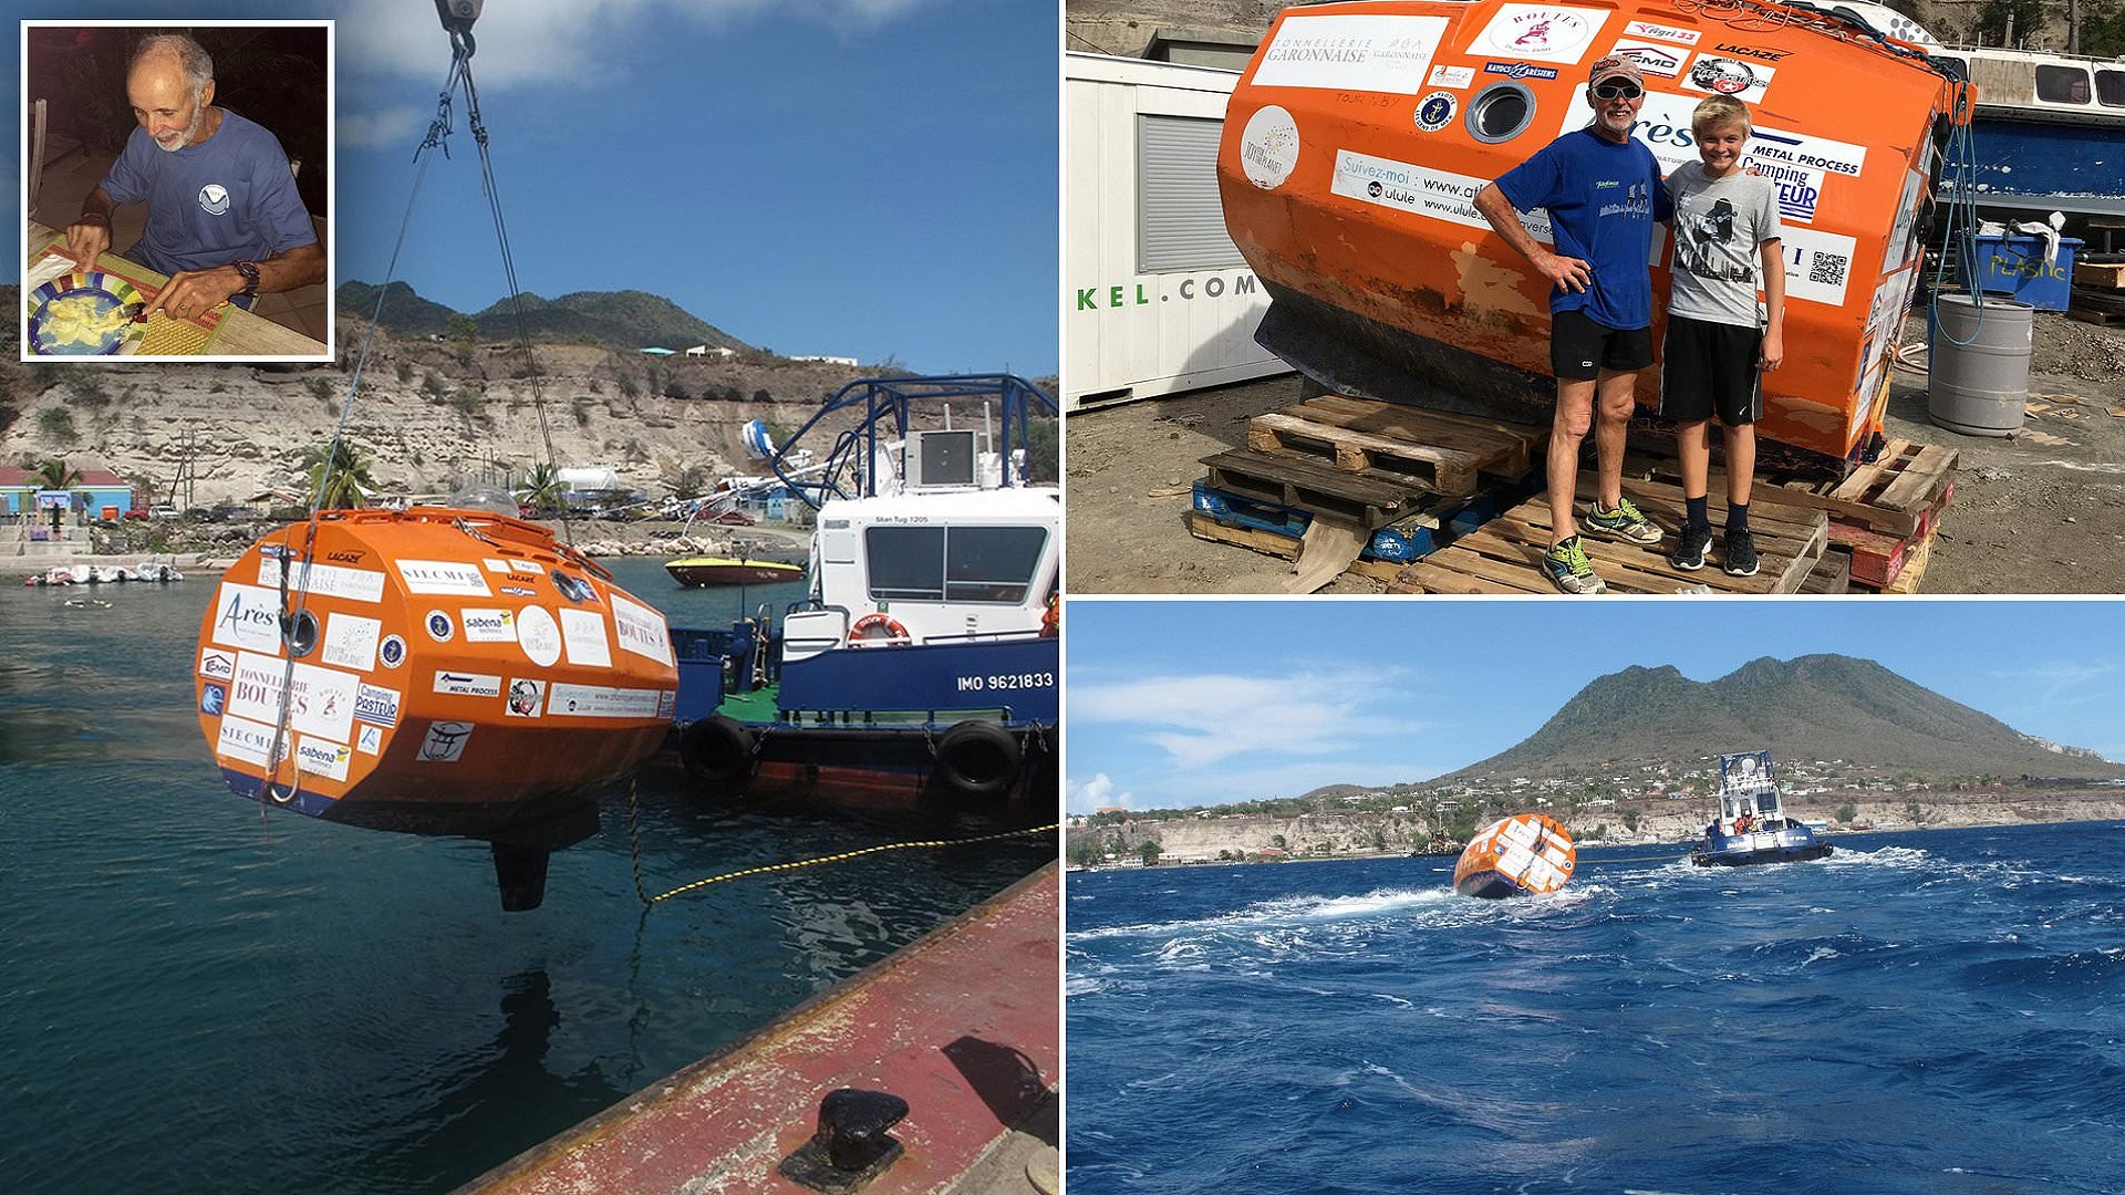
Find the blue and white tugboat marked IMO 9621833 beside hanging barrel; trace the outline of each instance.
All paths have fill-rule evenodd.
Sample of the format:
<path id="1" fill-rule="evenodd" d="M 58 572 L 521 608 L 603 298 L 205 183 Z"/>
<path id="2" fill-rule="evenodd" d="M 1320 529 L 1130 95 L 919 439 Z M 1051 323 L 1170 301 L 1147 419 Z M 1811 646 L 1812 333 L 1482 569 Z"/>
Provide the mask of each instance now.
<path id="1" fill-rule="evenodd" d="M 952 402 L 980 404 L 980 425 L 954 425 Z M 918 408 L 944 427 L 914 427 Z M 1007 374 L 867 378 L 767 451 L 818 510 L 812 585 L 780 625 L 761 610 L 727 632 L 672 632 L 676 746 L 710 795 L 1046 800 L 1062 498 L 1028 483 L 1035 410 L 1054 400 Z M 812 464 L 797 444 L 837 413 L 856 423 Z"/>

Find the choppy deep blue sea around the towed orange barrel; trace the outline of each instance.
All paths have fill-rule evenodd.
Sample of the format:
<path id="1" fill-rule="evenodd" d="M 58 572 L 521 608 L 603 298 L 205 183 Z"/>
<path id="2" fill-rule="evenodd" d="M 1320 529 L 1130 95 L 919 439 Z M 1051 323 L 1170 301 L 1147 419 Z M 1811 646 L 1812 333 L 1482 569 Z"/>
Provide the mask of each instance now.
<path id="1" fill-rule="evenodd" d="M 1067 880 L 1069 1193 L 2125 1191 L 2125 823 Z"/>

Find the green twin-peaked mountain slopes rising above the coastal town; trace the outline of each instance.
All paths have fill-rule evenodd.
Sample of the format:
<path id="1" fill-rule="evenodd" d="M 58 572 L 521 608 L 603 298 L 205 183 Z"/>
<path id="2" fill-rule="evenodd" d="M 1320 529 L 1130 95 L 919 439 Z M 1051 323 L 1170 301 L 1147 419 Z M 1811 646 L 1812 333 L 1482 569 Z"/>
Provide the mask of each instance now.
<path id="1" fill-rule="evenodd" d="M 2125 776 L 2116 763 L 2051 751 L 1870 659 L 1804 655 L 1755 659 L 1708 683 L 1674 668 L 1626 668 L 1581 689 L 1511 751 L 1445 780 L 1585 776 L 1740 748 L 1768 748 L 1781 759 L 1866 759 L 1923 776 Z"/>

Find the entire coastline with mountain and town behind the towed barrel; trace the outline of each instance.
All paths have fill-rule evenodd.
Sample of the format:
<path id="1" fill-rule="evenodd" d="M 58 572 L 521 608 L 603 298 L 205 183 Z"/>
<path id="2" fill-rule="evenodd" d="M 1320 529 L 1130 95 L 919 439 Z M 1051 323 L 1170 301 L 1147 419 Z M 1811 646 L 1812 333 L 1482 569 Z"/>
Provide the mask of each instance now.
<path id="1" fill-rule="evenodd" d="M 1619 717 L 1619 712 L 1624 717 Z M 1600 676 L 1509 751 L 1422 785 L 1326 785 L 1245 808 L 1103 812 L 1073 859 L 1456 851 L 1504 812 L 1594 842 L 1677 842 L 1704 821 L 1723 751 L 1770 748 L 1787 808 L 1851 825 L 2125 817 L 2125 765 L 2057 746 L 1847 655 L 1755 659 L 1711 683 L 1674 668 Z"/>

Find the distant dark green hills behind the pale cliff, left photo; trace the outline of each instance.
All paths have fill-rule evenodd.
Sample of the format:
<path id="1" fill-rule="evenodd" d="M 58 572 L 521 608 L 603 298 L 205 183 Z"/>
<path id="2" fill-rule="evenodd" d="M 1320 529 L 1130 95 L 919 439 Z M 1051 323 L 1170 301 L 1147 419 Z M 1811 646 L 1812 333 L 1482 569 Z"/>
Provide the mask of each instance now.
<path id="1" fill-rule="evenodd" d="M 385 293 L 382 327 L 400 338 L 448 336 L 450 317 L 459 315 L 440 302 L 421 298 L 406 283 L 374 287 L 370 283 L 340 283 L 336 291 L 340 313 L 370 319 L 376 310 L 376 296 Z M 472 323 L 480 330 L 480 340 L 516 340 L 516 308 L 523 308 L 523 327 L 533 342 L 604 344 L 608 349 L 710 349 L 752 351 L 750 344 L 722 332 L 720 327 L 682 310 L 663 296 L 644 291 L 576 291 L 557 300 L 544 300 L 531 291 L 495 300 L 487 310 L 472 313 Z"/>

